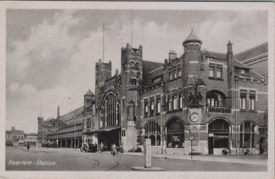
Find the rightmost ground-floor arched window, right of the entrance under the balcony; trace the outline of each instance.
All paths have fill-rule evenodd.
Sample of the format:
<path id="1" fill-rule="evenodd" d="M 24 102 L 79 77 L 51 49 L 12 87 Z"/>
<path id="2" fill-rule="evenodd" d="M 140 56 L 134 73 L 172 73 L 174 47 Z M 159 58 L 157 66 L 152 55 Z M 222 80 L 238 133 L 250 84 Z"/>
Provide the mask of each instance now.
<path id="1" fill-rule="evenodd" d="M 240 147 L 241 148 L 255 148 L 255 124 L 246 121 L 240 127 Z"/>

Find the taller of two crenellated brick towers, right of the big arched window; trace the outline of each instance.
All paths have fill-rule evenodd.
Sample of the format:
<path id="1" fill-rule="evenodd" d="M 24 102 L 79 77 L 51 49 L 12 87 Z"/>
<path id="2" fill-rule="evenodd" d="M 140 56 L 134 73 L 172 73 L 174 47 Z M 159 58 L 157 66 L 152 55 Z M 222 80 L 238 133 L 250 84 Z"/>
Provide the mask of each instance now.
<path id="1" fill-rule="evenodd" d="M 126 44 L 121 49 L 121 128 L 126 130 L 123 147 L 137 145 L 137 129 L 140 123 L 140 87 L 142 86 L 142 46 L 135 49 Z"/>

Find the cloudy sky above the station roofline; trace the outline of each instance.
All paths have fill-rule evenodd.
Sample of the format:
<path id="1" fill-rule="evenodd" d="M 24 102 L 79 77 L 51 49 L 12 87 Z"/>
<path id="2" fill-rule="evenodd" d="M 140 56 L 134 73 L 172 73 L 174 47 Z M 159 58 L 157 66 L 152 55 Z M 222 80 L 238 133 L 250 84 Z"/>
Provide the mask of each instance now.
<path id="1" fill-rule="evenodd" d="M 120 71 L 120 49 L 142 45 L 143 59 L 164 62 L 183 53 L 191 29 L 202 49 L 234 53 L 267 42 L 266 11 L 201 10 L 7 10 L 6 130 L 37 133 L 37 117 L 56 117 L 83 106 L 95 88 L 95 63 L 112 61 Z"/>

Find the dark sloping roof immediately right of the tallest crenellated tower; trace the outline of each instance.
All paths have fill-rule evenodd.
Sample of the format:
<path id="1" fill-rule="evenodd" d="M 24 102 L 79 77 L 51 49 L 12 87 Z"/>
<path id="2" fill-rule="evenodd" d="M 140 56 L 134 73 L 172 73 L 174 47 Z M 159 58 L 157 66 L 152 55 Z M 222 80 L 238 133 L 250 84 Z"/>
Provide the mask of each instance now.
<path id="1" fill-rule="evenodd" d="M 159 67 L 163 67 L 163 63 L 159 62 L 149 62 L 143 60 L 142 62 L 142 83 L 144 86 L 148 86 L 151 84 L 152 78 L 150 76 L 150 72 L 159 69 Z"/>

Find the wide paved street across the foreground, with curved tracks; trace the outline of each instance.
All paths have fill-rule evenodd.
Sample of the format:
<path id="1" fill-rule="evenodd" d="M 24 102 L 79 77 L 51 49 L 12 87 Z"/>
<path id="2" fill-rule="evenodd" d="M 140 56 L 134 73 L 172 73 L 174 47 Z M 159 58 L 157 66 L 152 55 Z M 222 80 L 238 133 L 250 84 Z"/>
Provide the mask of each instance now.
<path id="1" fill-rule="evenodd" d="M 125 153 L 111 156 L 110 152 L 85 153 L 70 148 L 40 148 L 38 153 L 25 147 L 5 148 L 6 170 L 34 170 L 34 171 L 131 171 L 131 167 L 143 166 L 143 156 L 137 153 Z M 217 158 L 207 156 L 206 159 L 190 160 L 177 156 L 153 155 L 153 167 L 162 167 L 164 171 L 266 171 L 265 158 L 252 156 L 250 161 L 259 162 L 259 165 L 248 163 L 219 162 L 223 160 L 207 160 Z M 236 157 L 236 156 L 234 156 Z M 203 156 L 201 156 L 203 158 Z M 230 158 L 225 158 L 225 160 Z M 21 162 L 21 163 L 20 163 Z M 24 165 L 25 164 L 25 165 Z"/>

